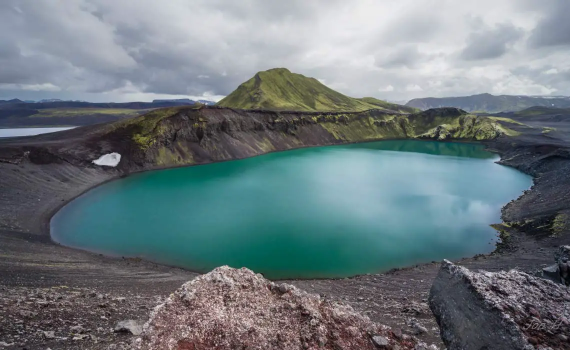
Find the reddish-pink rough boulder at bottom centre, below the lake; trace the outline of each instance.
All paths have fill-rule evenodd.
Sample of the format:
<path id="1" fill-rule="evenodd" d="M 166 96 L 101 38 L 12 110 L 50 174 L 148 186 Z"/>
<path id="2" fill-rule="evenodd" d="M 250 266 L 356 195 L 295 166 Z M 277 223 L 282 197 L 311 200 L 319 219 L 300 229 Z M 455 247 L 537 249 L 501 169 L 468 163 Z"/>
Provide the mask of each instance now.
<path id="1" fill-rule="evenodd" d="M 150 315 L 136 349 L 413 349 L 344 304 L 247 268 L 218 267 L 185 283 Z"/>

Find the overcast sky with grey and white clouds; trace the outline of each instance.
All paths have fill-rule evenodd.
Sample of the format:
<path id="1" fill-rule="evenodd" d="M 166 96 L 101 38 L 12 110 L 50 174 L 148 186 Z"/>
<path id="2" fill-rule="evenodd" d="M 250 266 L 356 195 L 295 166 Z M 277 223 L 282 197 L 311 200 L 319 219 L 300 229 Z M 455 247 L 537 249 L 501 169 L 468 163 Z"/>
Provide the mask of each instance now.
<path id="1" fill-rule="evenodd" d="M 569 0 L 2 0 L 0 99 L 217 100 L 286 67 L 354 97 L 570 95 Z"/>

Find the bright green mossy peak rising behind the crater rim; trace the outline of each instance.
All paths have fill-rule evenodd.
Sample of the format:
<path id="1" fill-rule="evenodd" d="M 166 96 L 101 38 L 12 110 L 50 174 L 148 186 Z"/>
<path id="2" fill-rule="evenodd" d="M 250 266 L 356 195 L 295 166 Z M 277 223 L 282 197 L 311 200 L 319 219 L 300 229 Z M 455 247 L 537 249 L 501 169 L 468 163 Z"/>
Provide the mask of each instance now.
<path id="1" fill-rule="evenodd" d="M 355 99 L 337 92 L 315 78 L 292 73 L 286 68 L 258 72 L 218 102 L 221 107 L 274 111 L 360 112 L 382 109 L 413 113 L 417 109 L 364 97 Z"/>

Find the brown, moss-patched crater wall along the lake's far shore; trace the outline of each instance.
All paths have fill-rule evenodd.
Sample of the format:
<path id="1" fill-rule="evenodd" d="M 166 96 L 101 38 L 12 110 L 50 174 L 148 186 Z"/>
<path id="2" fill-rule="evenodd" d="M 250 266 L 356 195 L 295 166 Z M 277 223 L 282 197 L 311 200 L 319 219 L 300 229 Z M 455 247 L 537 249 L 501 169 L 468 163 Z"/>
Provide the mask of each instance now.
<path id="1" fill-rule="evenodd" d="M 245 158 L 305 146 L 383 139 L 490 140 L 516 135 L 499 121 L 455 108 L 401 115 L 278 112 L 216 106 L 167 108 L 105 127 L 105 146 L 124 155 L 125 170 Z M 111 146 L 108 146 L 111 144 Z M 115 144 L 116 146 L 113 146 Z"/>

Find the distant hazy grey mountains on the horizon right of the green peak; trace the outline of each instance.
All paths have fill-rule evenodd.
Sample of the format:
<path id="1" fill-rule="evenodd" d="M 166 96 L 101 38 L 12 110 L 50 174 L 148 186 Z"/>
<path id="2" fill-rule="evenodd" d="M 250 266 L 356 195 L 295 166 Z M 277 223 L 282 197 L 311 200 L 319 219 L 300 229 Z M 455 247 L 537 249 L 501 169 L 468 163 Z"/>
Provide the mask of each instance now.
<path id="1" fill-rule="evenodd" d="M 480 93 L 479 95 L 461 97 L 426 97 L 413 99 L 406 103 L 409 107 L 422 110 L 438 107 L 461 108 L 467 112 L 517 112 L 530 107 L 570 107 L 570 97 L 567 96 L 512 96 L 491 95 Z"/>

